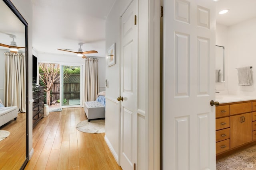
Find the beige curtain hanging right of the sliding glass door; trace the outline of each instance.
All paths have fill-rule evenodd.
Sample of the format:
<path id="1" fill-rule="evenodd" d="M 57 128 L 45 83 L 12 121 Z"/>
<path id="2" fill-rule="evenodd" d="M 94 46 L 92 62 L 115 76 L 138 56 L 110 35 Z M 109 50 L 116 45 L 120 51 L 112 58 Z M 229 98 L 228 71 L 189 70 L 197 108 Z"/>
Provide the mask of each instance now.
<path id="1" fill-rule="evenodd" d="M 84 69 L 84 101 L 94 101 L 99 92 L 98 59 L 86 58 Z M 83 102 L 84 106 L 84 102 Z"/>

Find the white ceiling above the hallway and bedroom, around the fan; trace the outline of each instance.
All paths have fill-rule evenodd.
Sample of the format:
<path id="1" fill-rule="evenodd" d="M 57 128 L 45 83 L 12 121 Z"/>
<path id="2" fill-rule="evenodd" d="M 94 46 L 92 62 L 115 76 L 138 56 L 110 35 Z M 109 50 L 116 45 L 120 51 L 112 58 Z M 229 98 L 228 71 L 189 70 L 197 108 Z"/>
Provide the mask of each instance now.
<path id="1" fill-rule="evenodd" d="M 74 55 L 59 49 L 96 50 L 105 57 L 105 19 L 115 0 L 33 0 L 33 47 L 38 52 Z"/>

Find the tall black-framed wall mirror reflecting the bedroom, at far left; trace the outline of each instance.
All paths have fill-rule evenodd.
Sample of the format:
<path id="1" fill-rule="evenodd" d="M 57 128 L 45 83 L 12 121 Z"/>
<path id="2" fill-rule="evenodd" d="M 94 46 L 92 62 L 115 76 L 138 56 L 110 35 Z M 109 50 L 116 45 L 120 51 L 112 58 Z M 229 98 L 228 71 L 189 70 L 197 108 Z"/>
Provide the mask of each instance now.
<path id="1" fill-rule="evenodd" d="M 0 0 L 0 169 L 24 169 L 28 162 L 27 27 L 12 2 Z M 24 48 L 10 51 L 15 43 Z"/>

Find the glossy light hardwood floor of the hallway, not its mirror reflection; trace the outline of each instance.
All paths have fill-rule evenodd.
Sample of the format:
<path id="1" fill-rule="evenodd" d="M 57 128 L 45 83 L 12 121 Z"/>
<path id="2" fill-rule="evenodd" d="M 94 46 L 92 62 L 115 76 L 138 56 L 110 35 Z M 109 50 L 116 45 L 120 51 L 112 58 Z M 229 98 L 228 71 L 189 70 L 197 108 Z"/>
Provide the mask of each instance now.
<path id="1" fill-rule="evenodd" d="M 81 107 L 44 117 L 33 129 L 34 155 L 25 170 L 122 170 L 104 141 L 105 133 L 76 130 L 85 119 Z"/>

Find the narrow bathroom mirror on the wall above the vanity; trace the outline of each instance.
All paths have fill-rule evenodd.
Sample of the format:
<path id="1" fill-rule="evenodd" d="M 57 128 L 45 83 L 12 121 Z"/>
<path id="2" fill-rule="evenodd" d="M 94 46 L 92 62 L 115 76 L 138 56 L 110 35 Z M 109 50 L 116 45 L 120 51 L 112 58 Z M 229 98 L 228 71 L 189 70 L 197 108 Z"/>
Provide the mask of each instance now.
<path id="1" fill-rule="evenodd" d="M 215 57 L 215 82 L 224 81 L 224 47 L 216 45 L 216 57 Z"/>

